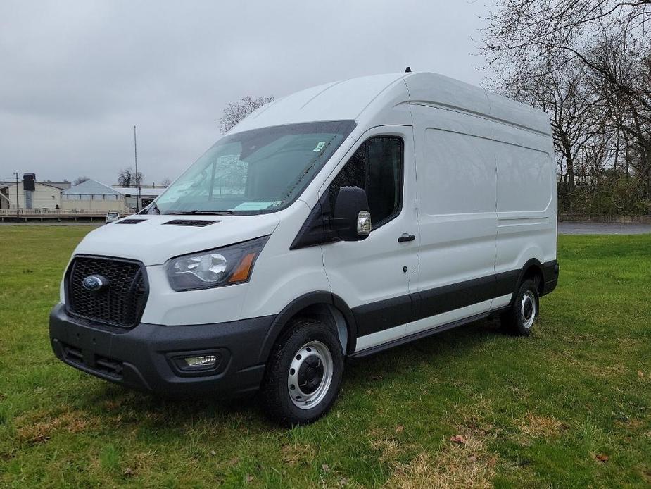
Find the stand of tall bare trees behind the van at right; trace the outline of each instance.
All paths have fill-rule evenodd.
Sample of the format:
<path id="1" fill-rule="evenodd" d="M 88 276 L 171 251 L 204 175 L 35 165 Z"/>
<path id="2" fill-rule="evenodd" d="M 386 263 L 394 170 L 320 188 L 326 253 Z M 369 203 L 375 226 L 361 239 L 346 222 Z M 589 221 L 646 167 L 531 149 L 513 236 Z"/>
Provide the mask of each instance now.
<path id="1" fill-rule="evenodd" d="M 651 209 L 648 20 L 651 0 L 503 0 L 488 18 L 492 85 L 550 115 L 566 210 Z"/>

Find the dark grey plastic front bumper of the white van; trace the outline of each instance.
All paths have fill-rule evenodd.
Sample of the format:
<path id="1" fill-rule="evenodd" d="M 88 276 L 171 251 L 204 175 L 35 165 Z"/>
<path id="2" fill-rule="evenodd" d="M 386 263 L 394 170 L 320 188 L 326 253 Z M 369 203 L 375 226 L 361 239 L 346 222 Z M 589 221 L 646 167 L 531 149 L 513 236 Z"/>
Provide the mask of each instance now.
<path id="1" fill-rule="evenodd" d="M 50 314 L 54 354 L 66 364 L 129 388 L 179 397 L 257 390 L 265 364 L 260 349 L 275 316 L 229 323 L 113 328 L 70 316 L 63 304 Z M 210 371 L 182 371 L 175 358 L 213 354 Z"/>

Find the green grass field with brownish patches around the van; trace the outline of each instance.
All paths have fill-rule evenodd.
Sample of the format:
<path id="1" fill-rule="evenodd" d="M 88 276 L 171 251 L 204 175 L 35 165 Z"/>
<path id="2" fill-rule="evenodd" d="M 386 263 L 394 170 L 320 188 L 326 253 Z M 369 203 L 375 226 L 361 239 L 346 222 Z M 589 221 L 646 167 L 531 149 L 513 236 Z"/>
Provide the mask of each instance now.
<path id="1" fill-rule="evenodd" d="M 483 321 L 351 362 L 329 416 L 286 431 L 253 400 L 160 400 L 54 358 L 88 231 L 0 228 L 0 486 L 651 485 L 651 235 L 561 236 L 531 338 Z"/>

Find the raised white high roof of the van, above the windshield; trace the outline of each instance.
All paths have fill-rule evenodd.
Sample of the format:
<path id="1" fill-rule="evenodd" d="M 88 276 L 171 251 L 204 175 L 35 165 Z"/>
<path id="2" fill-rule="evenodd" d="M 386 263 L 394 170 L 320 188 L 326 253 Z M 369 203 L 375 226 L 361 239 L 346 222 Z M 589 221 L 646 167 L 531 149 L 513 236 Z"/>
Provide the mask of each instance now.
<path id="1" fill-rule="evenodd" d="M 545 135 L 551 132 L 543 111 L 483 88 L 436 73 L 390 73 L 331 82 L 282 97 L 251 113 L 229 133 L 317 120 L 410 124 L 406 110 L 410 103 L 474 113 Z"/>

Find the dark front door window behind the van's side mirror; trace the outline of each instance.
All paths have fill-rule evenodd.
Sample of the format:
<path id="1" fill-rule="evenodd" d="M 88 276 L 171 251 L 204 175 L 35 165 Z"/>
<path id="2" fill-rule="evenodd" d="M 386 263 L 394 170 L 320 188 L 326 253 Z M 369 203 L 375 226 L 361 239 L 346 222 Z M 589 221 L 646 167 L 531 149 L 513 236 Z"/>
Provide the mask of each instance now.
<path id="1" fill-rule="evenodd" d="M 330 184 L 331 206 L 341 187 L 360 187 L 366 190 L 373 228 L 391 221 L 402 207 L 403 152 L 400 137 L 366 140 Z"/>

